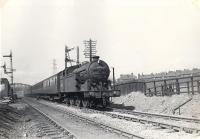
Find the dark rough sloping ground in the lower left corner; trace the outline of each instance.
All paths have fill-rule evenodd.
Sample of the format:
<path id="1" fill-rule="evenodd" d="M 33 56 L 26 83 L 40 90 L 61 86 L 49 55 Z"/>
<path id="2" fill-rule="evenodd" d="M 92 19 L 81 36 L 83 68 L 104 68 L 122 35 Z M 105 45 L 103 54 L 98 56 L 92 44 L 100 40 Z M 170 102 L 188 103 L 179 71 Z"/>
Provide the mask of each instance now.
<path id="1" fill-rule="evenodd" d="M 46 137 L 40 131 L 38 114 L 27 104 L 0 103 L 0 139 L 39 139 Z"/>

